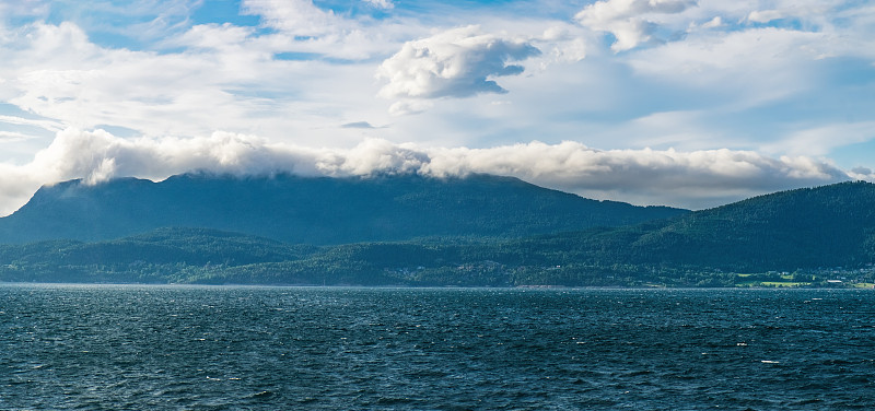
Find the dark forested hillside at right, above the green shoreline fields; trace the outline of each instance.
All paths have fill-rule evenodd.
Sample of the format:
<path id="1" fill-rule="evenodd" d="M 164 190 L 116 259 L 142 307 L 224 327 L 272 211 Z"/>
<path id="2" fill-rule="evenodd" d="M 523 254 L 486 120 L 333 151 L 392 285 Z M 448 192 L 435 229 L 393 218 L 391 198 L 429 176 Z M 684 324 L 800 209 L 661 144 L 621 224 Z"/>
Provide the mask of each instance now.
<path id="1" fill-rule="evenodd" d="M 875 257 L 875 185 L 782 191 L 675 220 L 539 242 L 598 262 L 743 272 L 860 266 Z"/>

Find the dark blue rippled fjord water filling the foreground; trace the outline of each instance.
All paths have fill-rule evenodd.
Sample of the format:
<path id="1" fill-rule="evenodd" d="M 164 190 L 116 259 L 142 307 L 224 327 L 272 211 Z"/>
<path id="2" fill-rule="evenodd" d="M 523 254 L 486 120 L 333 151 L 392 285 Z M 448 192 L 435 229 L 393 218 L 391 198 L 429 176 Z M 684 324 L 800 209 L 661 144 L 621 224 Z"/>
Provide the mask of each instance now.
<path id="1" fill-rule="evenodd" d="M 0 409 L 875 409 L 875 292 L 2 285 Z"/>

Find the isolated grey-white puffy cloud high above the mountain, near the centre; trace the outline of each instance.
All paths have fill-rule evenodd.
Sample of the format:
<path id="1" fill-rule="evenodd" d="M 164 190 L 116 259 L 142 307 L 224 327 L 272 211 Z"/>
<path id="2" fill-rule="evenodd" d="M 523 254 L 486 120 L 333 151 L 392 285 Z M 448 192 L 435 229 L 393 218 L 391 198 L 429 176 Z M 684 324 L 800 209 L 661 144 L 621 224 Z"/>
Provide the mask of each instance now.
<path id="1" fill-rule="evenodd" d="M 522 73 L 522 66 L 509 62 L 539 54 L 528 42 L 481 34 L 478 26 L 450 30 L 405 43 L 400 51 L 383 61 L 377 77 L 388 84 L 380 95 L 438 98 L 506 93 L 491 79 Z"/>

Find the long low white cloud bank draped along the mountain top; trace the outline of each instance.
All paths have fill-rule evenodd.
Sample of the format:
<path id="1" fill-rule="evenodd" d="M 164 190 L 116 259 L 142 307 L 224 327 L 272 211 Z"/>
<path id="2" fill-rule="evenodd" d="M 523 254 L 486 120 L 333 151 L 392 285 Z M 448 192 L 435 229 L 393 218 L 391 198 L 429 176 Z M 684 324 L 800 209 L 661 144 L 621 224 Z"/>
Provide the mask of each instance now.
<path id="1" fill-rule="evenodd" d="M 313 149 L 230 132 L 202 138 L 122 139 L 104 130 L 67 129 L 25 165 L 0 164 L 0 213 L 20 208 L 44 184 L 96 184 L 135 176 L 161 180 L 201 171 L 233 175 L 369 176 L 471 173 L 514 176 L 583 197 L 639 204 L 707 208 L 745 197 L 847 179 L 875 179 L 797 156 L 750 151 L 596 150 L 579 142 L 487 149 L 421 148 L 369 139 L 352 149 Z"/>

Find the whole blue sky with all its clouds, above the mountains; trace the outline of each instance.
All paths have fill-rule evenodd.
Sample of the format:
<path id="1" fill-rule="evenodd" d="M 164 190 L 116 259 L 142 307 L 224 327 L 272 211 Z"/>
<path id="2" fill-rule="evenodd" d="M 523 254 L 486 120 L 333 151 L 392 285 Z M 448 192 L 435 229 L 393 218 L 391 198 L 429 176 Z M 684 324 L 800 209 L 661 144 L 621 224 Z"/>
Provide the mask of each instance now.
<path id="1" fill-rule="evenodd" d="M 0 215 L 194 171 L 703 209 L 873 169 L 864 0 L 0 0 Z"/>

